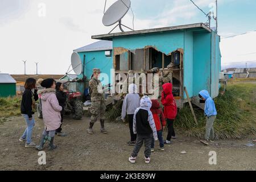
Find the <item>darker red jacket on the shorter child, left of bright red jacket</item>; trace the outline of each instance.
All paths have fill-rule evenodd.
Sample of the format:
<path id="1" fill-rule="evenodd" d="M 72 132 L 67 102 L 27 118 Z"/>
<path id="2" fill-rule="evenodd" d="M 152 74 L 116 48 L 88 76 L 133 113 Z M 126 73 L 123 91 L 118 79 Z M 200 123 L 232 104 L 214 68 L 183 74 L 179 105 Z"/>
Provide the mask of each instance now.
<path id="1" fill-rule="evenodd" d="M 156 131 L 160 131 L 163 129 L 162 126 L 166 126 L 166 118 L 164 118 L 164 114 L 162 109 L 160 109 L 160 104 L 158 100 L 151 100 L 151 101 L 152 101 L 152 106 L 150 108 L 150 111 L 153 114 Z"/>

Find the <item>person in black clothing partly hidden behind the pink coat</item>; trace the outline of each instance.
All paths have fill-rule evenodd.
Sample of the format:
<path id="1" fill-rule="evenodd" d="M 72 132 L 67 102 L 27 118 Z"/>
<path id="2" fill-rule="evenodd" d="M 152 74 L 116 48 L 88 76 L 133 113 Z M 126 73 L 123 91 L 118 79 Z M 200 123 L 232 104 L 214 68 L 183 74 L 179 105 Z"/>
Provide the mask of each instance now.
<path id="1" fill-rule="evenodd" d="M 63 123 L 63 115 L 65 114 L 65 103 L 67 100 L 66 94 L 63 92 L 64 86 L 61 82 L 56 83 L 56 97 L 57 100 L 59 101 L 59 105 L 62 107 L 62 110 L 60 111 L 60 116 L 61 116 L 61 125 Z M 61 125 L 60 127 L 56 130 L 56 134 L 59 137 L 67 137 L 67 134 L 61 132 Z"/>

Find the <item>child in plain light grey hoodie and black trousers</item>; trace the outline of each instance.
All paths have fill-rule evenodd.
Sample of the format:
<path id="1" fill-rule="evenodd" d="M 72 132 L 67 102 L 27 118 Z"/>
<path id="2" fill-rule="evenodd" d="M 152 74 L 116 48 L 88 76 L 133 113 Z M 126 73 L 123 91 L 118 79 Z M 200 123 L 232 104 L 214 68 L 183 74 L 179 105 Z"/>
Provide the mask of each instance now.
<path id="1" fill-rule="evenodd" d="M 124 121 L 126 113 L 129 121 L 131 140 L 127 142 L 128 145 L 133 146 L 136 141 L 136 134 L 133 133 L 133 115 L 135 110 L 139 107 L 139 101 L 141 98 L 137 92 L 137 86 L 135 84 L 129 85 L 129 94 L 125 96 L 122 106 L 122 120 Z"/>

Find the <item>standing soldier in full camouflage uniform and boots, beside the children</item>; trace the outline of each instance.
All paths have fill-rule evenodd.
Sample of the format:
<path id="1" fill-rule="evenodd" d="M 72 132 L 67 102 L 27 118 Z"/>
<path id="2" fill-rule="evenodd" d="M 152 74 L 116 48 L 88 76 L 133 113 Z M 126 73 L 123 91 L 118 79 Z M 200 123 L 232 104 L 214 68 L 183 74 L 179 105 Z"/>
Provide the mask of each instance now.
<path id="1" fill-rule="evenodd" d="M 104 99 L 104 93 L 102 90 L 101 81 L 98 80 L 100 73 L 101 73 L 100 69 L 94 68 L 93 76 L 89 81 L 89 92 L 92 100 L 92 105 L 90 107 L 90 113 L 92 113 L 92 117 L 90 118 L 89 129 L 87 129 L 87 132 L 89 134 L 94 133 L 92 128 L 98 118 L 100 118 L 100 122 L 101 122 L 101 132 L 104 134 L 108 133 L 104 128 L 104 122 L 105 122 L 104 115 L 105 115 L 106 106 L 105 106 L 105 99 Z"/>

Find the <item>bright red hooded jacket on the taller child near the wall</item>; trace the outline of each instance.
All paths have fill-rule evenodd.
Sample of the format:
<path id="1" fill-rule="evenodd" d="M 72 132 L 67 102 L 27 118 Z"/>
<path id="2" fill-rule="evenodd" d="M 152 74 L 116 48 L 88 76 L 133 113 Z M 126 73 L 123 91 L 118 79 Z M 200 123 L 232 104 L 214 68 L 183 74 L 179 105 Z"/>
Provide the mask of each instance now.
<path id="1" fill-rule="evenodd" d="M 177 106 L 172 95 L 172 84 L 167 83 L 163 85 L 161 102 L 164 106 L 164 117 L 167 119 L 175 119 L 177 115 Z"/>

